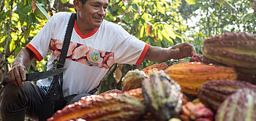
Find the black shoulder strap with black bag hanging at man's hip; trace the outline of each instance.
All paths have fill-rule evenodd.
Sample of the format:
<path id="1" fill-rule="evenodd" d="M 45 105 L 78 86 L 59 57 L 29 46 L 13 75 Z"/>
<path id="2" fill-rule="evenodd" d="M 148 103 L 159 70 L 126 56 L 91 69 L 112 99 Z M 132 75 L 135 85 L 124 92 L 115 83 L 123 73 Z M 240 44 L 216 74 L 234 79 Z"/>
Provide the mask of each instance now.
<path id="1" fill-rule="evenodd" d="M 76 14 L 72 13 L 69 19 L 69 23 L 67 25 L 67 31 L 64 36 L 64 43 L 62 45 L 61 55 L 59 58 L 57 68 L 64 67 L 64 63 L 67 56 L 67 50 L 69 48 L 69 42 L 72 35 L 72 30 L 75 24 L 75 19 L 76 19 Z M 47 120 L 48 118 L 53 116 L 54 112 L 56 112 L 56 110 L 59 109 L 59 107 L 65 106 L 65 103 L 62 102 L 64 100 L 62 83 L 63 83 L 62 73 L 53 77 L 53 82 L 51 82 L 50 87 L 41 104 L 39 121 Z"/>

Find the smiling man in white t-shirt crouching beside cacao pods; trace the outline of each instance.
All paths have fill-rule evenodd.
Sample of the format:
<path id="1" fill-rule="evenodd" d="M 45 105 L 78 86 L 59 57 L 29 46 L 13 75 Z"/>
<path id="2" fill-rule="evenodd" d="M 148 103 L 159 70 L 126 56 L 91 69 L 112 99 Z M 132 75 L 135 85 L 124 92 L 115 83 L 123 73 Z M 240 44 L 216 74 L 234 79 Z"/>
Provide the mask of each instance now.
<path id="1" fill-rule="evenodd" d="M 165 62 L 195 54 L 187 42 L 163 49 L 152 47 L 131 36 L 120 26 L 104 20 L 108 0 L 74 0 L 77 20 L 72 31 L 67 59 L 64 64 L 64 96 L 78 94 L 70 103 L 88 95 L 104 77 L 113 63 L 140 65 L 143 58 Z M 32 58 L 41 61 L 50 50 L 48 69 L 58 60 L 71 13 L 57 13 L 37 36 L 20 51 L 12 69 L 9 82 L 1 91 L 2 120 L 24 120 L 24 115 L 38 118 L 40 105 L 52 79 L 26 80 L 26 68 Z M 69 103 L 69 104 L 70 104 Z"/>

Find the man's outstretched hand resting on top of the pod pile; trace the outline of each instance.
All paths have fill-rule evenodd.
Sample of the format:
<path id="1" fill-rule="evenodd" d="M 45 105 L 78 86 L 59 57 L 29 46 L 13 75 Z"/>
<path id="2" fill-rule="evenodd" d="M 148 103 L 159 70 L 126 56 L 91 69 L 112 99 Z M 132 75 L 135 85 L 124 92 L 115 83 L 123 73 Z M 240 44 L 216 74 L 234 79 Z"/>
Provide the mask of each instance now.
<path id="1" fill-rule="evenodd" d="M 170 52 L 170 55 L 172 55 L 172 58 L 176 60 L 195 55 L 195 47 L 192 44 L 189 44 L 189 42 L 177 44 L 170 47 L 168 51 Z"/>

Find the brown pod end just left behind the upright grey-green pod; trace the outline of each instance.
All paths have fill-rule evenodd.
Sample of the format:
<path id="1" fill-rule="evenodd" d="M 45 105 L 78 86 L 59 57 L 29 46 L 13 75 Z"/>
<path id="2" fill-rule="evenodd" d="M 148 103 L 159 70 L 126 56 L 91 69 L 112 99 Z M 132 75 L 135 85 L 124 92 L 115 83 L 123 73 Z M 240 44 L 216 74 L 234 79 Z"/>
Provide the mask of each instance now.
<path id="1" fill-rule="evenodd" d="M 147 75 L 143 71 L 138 69 L 128 71 L 122 79 L 122 91 L 124 92 L 142 87 L 142 81 L 145 78 L 147 78 Z"/>

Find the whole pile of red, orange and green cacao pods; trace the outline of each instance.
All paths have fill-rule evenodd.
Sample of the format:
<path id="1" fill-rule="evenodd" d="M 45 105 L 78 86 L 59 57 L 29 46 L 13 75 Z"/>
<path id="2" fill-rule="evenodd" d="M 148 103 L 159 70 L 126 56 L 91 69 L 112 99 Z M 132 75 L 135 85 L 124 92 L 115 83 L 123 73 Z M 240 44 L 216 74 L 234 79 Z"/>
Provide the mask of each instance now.
<path id="1" fill-rule="evenodd" d="M 190 61 L 128 71 L 122 90 L 86 96 L 48 120 L 256 120 L 256 34 L 210 37 Z"/>

